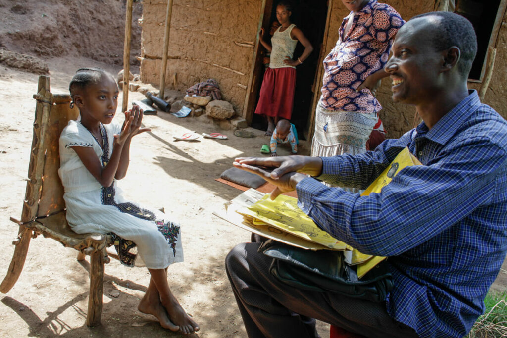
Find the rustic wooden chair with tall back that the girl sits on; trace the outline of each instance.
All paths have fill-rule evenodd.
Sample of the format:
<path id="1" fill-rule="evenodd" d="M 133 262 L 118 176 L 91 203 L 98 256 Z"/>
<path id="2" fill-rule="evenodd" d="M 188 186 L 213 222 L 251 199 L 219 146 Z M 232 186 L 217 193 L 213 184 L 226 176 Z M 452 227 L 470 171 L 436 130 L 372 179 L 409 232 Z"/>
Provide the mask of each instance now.
<path id="1" fill-rule="evenodd" d="M 21 220 L 11 217 L 19 224 L 16 246 L 7 275 L 0 285 L 0 291 L 9 292 L 21 274 L 30 239 L 38 234 L 62 243 L 65 247 L 79 251 L 78 260 L 90 255 L 90 294 L 86 324 L 100 324 L 102 315 L 102 294 L 104 263 L 108 263 L 106 247 L 111 238 L 104 234 L 77 234 L 65 219 L 63 186 L 58 176 L 60 167 L 58 139 L 69 120 L 76 120 L 77 108 L 70 108 L 70 95 L 52 94 L 49 77 L 39 77 L 38 93 L 33 122 L 33 140 L 28 166 L 25 199 Z M 112 255 L 114 257 L 114 255 Z M 115 257 L 116 258 L 116 257 Z"/>

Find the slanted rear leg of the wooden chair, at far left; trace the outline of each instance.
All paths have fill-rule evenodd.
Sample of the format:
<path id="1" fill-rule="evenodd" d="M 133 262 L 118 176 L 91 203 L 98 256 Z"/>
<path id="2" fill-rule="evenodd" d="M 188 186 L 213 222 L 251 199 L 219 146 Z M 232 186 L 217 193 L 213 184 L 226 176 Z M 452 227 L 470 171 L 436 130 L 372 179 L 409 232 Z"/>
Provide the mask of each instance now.
<path id="1" fill-rule="evenodd" d="M 30 245 L 32 230 L 25 228 L 24 226 L 19 226 L 18 234 L 20 240 L 14 248 L 14 254 L 12 256 L 11 265 L 7 271 L 7 275 L 5 276 L 2 285 L 0 285 L 0 292 L 2 293 L 7 293 L 12 289 L 23 270 L 23 266 L 25 265 L 26 253 L 28 252 L 28 246 Z"/>

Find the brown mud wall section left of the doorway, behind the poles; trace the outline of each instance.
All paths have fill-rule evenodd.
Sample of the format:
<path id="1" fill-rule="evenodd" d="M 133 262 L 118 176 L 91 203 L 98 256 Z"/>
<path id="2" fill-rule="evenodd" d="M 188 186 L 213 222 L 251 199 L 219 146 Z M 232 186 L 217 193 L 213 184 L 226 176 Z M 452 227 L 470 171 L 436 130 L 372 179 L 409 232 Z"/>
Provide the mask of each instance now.
<path id="1" fill-rule="evenodd" d="M 141 34 L 141 81 L 160 84 L 167 2 L 146 0 Z M 174 0 L 166 87 L 186 90 L 219 82 L 224 100 L 241 114 L 248 86 L 261 0 Z"/>

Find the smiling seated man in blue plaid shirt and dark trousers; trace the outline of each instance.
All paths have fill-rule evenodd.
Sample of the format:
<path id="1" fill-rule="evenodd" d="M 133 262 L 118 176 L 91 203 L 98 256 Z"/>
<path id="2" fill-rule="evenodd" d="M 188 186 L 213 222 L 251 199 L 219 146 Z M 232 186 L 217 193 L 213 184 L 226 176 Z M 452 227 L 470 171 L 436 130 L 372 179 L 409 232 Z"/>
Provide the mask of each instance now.
<path id="1" fill-rule="evenodd" d="M 416 106 L 417 128 L 357 156 L 236 159 L 277 185 L 272 198 L 296 189 L 300 208 L 333 237 L 388 256 L 394 283 L 380 303 L 297 289 L 269 273 L 259 243 L 240 244 L 226 270 L 250 337 L 318 336 L 312 318 L 369 337 L 462 337 L 483 314 L 507 252 L 507 123 L 467 89 L 476 51 L 463 17 L 412 18 L 385 70 L 393 100 Z M 423 165 L 379 194 L 318 181 L 365 189 L 407 146 Z"/>

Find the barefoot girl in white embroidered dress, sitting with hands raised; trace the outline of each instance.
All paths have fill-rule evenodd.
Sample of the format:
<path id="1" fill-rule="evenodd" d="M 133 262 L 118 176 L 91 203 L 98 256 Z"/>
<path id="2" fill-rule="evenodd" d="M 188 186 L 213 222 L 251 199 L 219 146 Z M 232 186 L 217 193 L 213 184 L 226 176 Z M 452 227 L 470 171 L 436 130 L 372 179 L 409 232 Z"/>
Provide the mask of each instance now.
<path id="1" fill-rule="evenodd" d="M 183 261 L 179 224 L 162 212 L 125 201 L 116 180 L 125 176 L 130 141 L 149 130 L 140 128 L 142 109 L 125 111 L 125 122 L 113 118 L 118 86 L 100 68 L 79 69 L 69 86 L 79 121 L 69 121 L 60 136 L 60 169 L 67 221 L 77 233 L 112 233 L 121 262 L 133 266 L 137 252 L 151 274 L 138 310 L 156 316 L 172 331 L 192 333 L 197 323 L 179 305 L 167 282 L 167 267 Z M 135 244 L 134 244 L 135 243 Z"/>

